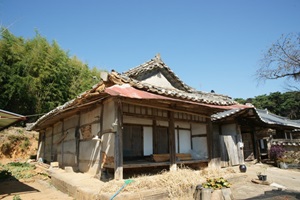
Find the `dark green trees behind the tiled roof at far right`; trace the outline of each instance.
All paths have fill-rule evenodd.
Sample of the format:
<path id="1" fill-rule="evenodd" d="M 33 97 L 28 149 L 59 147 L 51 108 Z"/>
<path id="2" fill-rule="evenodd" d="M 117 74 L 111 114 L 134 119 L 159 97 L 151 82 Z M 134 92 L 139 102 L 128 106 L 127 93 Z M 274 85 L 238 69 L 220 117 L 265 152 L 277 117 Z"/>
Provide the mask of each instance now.
<path id="1" fill-rule="evenodd" d="M 235 99 L 237 102 L 245 104 L 251 103 L 258 109 L 268 109 L 271 113 L 287 117 L 289 119 L 300 119 L 300 92 L 274 92 L 269 95 L 259 95 L 255 98 L 244 100 Z"/>

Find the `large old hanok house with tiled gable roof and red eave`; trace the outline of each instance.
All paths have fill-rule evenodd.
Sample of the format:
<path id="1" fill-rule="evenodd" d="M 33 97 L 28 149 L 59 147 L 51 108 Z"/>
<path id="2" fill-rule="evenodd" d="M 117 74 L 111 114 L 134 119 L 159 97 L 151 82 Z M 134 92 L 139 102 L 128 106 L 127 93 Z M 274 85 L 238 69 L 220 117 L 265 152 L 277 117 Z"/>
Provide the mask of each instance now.
<path id="1" fill-rule="evenodd" d="M 38 157 L 100 175 L 113 169 L 201 164 L 212 157 L 211 115 L 239 107 L 231 98 L 197 92 L 156 56 L 102 80 L 42 116 Z"/>

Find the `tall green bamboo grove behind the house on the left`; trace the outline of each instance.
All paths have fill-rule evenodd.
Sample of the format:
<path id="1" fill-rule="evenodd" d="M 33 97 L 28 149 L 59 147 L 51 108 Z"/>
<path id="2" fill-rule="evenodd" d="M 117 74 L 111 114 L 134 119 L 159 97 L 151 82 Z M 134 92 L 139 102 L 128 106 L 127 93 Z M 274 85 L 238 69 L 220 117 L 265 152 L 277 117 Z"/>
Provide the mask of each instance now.
<path id="1" fill-rule="evenodd" d="M 99 70 L 70 58 L 55 41 L 50 44 L 38 33 L 24 39 L 2 29 L 1 109 L 23 115 L 48 112 L 91 88 L 99 76 Z"/>

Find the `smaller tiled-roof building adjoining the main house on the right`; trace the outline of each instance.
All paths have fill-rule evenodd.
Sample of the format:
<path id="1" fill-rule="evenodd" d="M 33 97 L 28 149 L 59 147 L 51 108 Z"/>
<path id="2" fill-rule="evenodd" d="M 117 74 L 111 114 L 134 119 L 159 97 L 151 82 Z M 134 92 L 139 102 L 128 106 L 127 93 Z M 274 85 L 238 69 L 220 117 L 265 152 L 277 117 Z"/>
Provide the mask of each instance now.
<path id="1" fill-rule="evenodd" d="M 238 165 L 244 160 L 268 158 L 271 145 L 298 151 L 300 123 L 268 110 L 237 108 L 212 115 L 214 134 L 220 135 L 221 165 Z"/>

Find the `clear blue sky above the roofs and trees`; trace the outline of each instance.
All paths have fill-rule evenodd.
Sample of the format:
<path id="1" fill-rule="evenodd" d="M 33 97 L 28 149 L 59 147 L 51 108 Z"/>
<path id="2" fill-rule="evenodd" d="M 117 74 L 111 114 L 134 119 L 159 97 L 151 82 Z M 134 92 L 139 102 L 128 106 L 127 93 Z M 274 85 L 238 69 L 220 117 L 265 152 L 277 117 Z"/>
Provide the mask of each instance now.
<path id="1" fill-rule="evenodd" d="M 255 72 L 273 42 L 300 32 L 300 1 L 0 0 L 0 25 L 38 31 L 90 68 L 121 73 L 159 53 L 187 85 L 246 99 L 287 91 Z"/>

